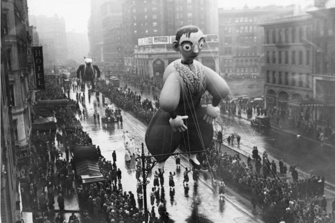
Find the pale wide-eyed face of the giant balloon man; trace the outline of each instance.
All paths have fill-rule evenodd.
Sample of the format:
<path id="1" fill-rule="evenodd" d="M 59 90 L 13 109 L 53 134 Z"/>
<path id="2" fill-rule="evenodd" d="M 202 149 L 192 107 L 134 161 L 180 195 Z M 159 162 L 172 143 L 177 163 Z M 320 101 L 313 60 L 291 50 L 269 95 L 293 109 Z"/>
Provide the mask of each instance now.
<path id="1" fill-rule="evenodd" d="M 192 32 L 190 38 L 186 34 L 179 40 L 179 50 L 182 53 L 182 60 L 192 62 L 198 57 L 201 48 L 205 43 L 205 36 L 202 31 Z"/>

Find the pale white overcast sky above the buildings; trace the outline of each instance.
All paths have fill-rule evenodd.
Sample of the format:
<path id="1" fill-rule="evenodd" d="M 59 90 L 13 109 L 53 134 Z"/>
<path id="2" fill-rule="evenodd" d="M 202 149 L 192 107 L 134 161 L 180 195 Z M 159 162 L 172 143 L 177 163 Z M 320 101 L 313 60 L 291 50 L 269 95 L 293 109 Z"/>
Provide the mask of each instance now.
<path id="1" fill-rule="evenodd" d="M 90 0 L 27 0 L 29 14 L 46 15 L 52 17 L 55 14 L 65 20 L 66 31 L 87 32 L 87 21 L 90 16 Z M 219 8 L 289 5 L 297 3 L 305 5 L 311 0 L 218 0 Z"/>

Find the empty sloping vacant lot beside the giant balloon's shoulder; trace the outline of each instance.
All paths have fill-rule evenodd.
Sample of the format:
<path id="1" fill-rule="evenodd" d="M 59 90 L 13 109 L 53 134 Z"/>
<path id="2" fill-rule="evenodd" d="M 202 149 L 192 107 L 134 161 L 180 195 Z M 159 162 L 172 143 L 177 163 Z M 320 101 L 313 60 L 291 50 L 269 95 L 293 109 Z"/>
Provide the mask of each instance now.
<path id="1" fill-rule="evenodd" d="M 260 97 L 264 93 L 264 79 L 226 80 L 231 94 L 234 96 L 247 95 L 250 98 Z"/>

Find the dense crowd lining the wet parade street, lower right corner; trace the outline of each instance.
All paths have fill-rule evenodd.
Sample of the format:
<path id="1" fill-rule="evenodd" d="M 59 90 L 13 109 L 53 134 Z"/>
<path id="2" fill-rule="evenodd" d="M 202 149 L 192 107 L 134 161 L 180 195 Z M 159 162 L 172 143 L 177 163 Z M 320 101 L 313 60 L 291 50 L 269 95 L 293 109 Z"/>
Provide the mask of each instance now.
<path id="1" fill-rule="evenodd" d="M 286 178 L 282 180 L 272 165 L 268 165 L 266 153 L 263 156 L 261 175 L 260 171 L 253 171 L 250 157 L 246 163 L 241 160 L 238 153 L 233 155 L 226 152 L 218 153 L 214 144 L 206 150 L 206 153 L 200 154 L 198 159 L 202 163 L 209 164 L 213 179 L 223 179 L 242 193 L 251 195 L 252 204 L 263 209 L 267 222 L 281 220 L 286 223 L 335 222 L 334 212 L 327 212 L 324 177 L 311 176 L 308 179 L 295 179 L 294 182 Z M 257 161 L 261 162 L 260 156 Z M 271 175 L 270 173 L 274 171 L 276 173 Z M 290 172 L 293 176 L 294 165 L 290 166 Z M 335 202 L 333 206 L 334 204 Z"/>

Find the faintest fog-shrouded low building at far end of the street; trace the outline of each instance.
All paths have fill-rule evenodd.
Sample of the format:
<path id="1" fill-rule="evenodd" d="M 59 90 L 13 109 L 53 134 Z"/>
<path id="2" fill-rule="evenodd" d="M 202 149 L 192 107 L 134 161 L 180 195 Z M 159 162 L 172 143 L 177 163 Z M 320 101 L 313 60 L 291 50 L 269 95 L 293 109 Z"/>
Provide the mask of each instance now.
<path id="1" fill-rule="evenodd" d="M 68 47 L 68 59 L 77 63 L 83 63 L 83 57 L 88 55 L 88 36 L 86 33 L 67 32 L 66 42 Z"/>

